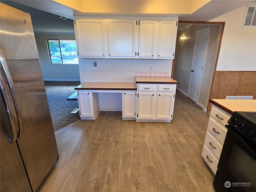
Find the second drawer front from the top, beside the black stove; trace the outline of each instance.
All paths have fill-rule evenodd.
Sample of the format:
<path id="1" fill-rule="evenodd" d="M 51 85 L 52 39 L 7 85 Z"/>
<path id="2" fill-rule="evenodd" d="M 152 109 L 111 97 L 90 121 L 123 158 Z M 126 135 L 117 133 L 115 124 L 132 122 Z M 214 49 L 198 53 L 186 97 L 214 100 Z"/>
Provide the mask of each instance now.
<path id="1" fill-rule="evenodd" d="M 210 117 L 207 130 L 223 145 L 227 134 L 227 129 L 224 126 L 216 123 L 212 117 Z"/>

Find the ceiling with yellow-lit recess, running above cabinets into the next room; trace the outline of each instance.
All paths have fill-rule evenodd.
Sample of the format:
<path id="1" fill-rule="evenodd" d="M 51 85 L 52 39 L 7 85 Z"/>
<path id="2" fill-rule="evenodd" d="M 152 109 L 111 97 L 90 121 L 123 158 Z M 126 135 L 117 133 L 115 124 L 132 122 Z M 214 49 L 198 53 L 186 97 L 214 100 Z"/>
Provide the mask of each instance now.
<path id="1" fill-rule="evenodd" d="M 1 2 L 30 13 L 35 33 L 74 33 L 74 15 L 178 16 L 180 21 L 209 21 L 246 4 L 255 3 L 256 1 L 194 0 L 194 2 L 201 4 L 201 7 L 194 8 L 193 11 L 191 11 L 192 8 L 186 8 L 186 6 L 188 6 L 187 4 L 191 1 L 182 0 L 1 0 Z M 70 2 L 71 7 L 59 2 Z M 153 2 L 158 3 L 158 8 L 156 6 L 154 7 Z M 176 2 L 175 6 L 178 6 L 177 3 L 182 3 L 183 9 L 179 10 L 182 13 L 177 13 L 179 11 L 177 11 L 178 8 L 174 10 L 175 7 L 172 9 L 168 9 L 168 7 L 166 8 L 166 4 L 168 5 L 169 3 L 171 5 L 173 2 Z M 113 3 L 115 3 L 115 6 L 113 6 Z M 141 4 L 140 9 L 145 5 L 147 8 L 145 10 L 129 8 L 130 6 L 136 6 L 136 4 L 139 3 Z M 102 7 L 99 5 L 102 5 Z M 126 5 L 129 5 L 129 7 L 127 8 Z M 83 7 L 83 10 L 82 8 L 80 9 L 81 6 Z M 67 17 L 68 19 L 62 20 L 60 16 Z"/>

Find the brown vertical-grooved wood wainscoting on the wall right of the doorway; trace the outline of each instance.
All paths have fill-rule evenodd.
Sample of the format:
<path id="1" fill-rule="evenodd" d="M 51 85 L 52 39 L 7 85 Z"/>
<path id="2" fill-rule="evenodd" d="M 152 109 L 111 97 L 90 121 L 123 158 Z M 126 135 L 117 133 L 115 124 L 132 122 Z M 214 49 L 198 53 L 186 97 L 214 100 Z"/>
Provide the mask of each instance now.
<path id="1" fill-rule="evenodd" d="M 225 99 L 226 96 L 253 96 L 256 99 L 256 71 L 216 71 L 210 99 Z M 211 107 L 209 102 L 207 111 Z"/>

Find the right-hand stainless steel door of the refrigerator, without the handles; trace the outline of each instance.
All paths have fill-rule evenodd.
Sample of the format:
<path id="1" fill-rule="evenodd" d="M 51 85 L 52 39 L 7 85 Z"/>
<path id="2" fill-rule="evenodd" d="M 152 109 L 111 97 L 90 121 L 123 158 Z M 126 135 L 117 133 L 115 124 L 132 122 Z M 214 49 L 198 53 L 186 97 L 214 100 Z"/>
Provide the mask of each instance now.
<path id="1" fill-rule="evenodd" d="M 23 134 L 17 144 L 35 191 L 58 159 L 58 148 L 30 15 L 0 4 L 1 51 L 22 111 Z"/>

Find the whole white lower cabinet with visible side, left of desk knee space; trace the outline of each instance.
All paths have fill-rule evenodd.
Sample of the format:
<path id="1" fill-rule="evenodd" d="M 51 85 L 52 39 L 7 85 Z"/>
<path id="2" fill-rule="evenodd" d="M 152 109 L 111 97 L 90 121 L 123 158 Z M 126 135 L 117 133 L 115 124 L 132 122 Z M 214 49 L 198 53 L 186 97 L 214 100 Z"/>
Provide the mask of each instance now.
<path id="1" fill-rule="evenodd" d="M 77 90 L 77 93 L 81 119 L 95 119 L 100 112 L 98 93 L 90 90 Z"/>

